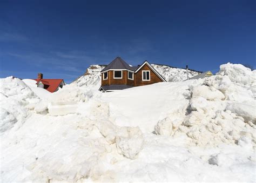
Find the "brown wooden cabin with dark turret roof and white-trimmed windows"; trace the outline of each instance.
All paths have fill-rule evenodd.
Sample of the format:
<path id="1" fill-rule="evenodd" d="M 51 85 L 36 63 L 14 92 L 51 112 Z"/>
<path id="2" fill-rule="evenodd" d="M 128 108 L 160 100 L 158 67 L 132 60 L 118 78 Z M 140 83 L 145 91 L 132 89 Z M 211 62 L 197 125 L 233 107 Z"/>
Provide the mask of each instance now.
<path id="1" fill-rule="evenodd" d="M 117 57 L 100 73 L 102 85 L 99 91 L 103 92 L 166 82 L 147 60 L 142 65 L 130 66 L 122 58 Z"/>

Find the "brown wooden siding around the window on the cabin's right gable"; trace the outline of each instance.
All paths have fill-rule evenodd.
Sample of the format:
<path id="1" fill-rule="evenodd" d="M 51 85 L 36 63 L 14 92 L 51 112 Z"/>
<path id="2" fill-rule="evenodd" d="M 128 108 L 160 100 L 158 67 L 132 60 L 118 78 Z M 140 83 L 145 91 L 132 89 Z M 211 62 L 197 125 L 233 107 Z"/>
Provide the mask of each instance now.
<path id="1" fill-rule="evenodd" d="M 143 81 L 142 80 L 142 71 L 150 71 L 150 81 Z M 143 86 L 143 85 L 149 85 L 153 83 L 162 82 L 162 80 L 155 74 L 149 66 L 146 64 L 140 69 L 136 74 L 134 74 L 134 86 Z"/>

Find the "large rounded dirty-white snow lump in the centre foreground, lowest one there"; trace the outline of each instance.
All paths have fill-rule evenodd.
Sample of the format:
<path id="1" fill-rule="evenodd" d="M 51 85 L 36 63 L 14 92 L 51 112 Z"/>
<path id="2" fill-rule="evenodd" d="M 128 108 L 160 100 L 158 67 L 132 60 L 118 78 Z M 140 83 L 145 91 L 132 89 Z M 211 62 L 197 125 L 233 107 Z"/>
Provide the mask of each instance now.
<path id="1" fill-rule="evenodd" d="M 130 159 L 136 159 L 144 145 L 139 127 L 121 127 L 116 136 L 117 151 Z"/>

